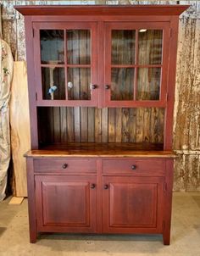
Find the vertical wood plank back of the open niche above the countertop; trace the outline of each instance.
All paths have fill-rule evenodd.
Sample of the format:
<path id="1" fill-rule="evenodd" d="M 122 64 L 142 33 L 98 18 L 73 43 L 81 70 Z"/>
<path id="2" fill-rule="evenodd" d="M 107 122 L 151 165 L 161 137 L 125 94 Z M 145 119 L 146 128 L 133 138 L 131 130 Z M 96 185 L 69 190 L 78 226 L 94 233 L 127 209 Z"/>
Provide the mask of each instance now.
<path id="1" fill-rule="evenodd" d="M 41 107 L 38 126 L 41 146 L 58 142 L 163 143 L 164 109 Z"/>

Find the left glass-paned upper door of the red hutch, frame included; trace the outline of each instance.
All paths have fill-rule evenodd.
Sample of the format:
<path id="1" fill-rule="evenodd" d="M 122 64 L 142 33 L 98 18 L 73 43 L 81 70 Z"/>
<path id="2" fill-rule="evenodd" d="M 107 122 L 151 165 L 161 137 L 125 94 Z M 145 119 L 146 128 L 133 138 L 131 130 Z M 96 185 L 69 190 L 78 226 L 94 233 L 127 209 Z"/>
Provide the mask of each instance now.
<path id="1" fill-rule="evenodd" d="M 37 103 L 97 105 L 96 24 L 35 26 Z"/>

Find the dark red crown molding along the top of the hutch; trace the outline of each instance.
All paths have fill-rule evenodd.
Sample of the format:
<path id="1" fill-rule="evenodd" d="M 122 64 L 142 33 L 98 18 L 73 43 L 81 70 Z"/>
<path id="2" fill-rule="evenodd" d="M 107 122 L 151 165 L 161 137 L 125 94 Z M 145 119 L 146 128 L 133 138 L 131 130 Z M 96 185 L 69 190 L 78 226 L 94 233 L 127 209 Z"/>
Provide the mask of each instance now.
<path id="1" fill-rule="evenodd" d="M 180 15 L 190 5 L 16 5 L 23 15 Z"/>

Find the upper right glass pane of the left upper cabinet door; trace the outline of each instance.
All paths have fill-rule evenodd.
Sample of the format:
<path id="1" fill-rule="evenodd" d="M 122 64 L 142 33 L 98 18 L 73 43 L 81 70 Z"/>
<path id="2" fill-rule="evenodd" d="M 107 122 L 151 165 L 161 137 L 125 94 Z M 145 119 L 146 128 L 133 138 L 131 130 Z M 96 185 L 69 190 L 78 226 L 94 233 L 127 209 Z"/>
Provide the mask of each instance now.
<path id="1" fill-rule="evenodd" d="M 67 31 L 68 64 L 91 64 L 91 32 Z"/>

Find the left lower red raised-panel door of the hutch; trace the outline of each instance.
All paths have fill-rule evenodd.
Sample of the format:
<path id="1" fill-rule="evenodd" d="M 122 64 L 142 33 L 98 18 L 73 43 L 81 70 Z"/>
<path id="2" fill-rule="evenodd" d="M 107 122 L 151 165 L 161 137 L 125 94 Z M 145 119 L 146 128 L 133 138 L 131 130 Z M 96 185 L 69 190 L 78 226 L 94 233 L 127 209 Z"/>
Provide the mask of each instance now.
<path id="1" fill-rule="evenodd" d="M 95 232 L 96 175 L 36 175 L 38 231 Z"/>

